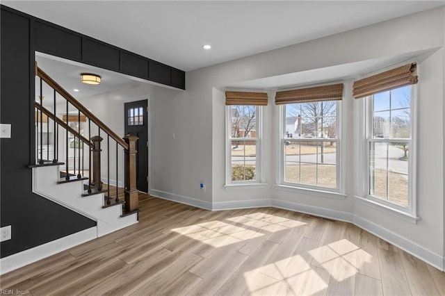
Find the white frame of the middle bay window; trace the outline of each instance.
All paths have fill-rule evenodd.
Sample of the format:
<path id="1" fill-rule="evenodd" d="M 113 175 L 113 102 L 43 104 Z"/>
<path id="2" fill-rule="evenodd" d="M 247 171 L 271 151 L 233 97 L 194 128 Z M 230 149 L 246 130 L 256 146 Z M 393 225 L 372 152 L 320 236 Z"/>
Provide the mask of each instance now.
<path id="1" fill-rule="evenodd" d="M 343 108 L 343 104 L 341 104 L 341 100 L 335 101 L 336 103 L 336 125 L 337 125 L 337 138 L 310 138 L 310 139 L 304 139 L 304 138 L 293 138 L 297 142 L 336 142 L 336 174 L 337 174 L 337 180 L 336 180 L 336 187 L 335 188 L 328 188 L 323 186 L 313 186 L 308 184 L 302 184 L 302 183 L 291 183 L 285 181 L 285 154 L 286 154 L 286 141 L 289 140 L 289 138 L 285 138 L 286 135 L 286 105 L 282 104 L 279 107 L 279 113 L 280 113 L 280 124 L 279 124 L 279 133 L 278 133 L 278 140 L 279 140 L 279 174 L 278 174 L 278 183 L 279 186 L 282 188 L 289 188 L 289 189 L 300 189 L 300 190 L 310 190 L 310 191 L 316 191 L 316 192 L 327 192 L 329 197 L 337 197 L 339 194 L 341 196 L 343 192 L 343 177 L 341 176 L 341 173 L 343 172 L 342 167 L 343 163 L 341 163 L 341 154 L 343 151 L 342 147 L 342 140 L 341 140 L 341 129 L 342 129 L 342 122 L 341 122 L 341 108 Z M 301 103 L 304 104 L 304 103 Z M 338 198 L 338 197 L 337 197 Z"/>

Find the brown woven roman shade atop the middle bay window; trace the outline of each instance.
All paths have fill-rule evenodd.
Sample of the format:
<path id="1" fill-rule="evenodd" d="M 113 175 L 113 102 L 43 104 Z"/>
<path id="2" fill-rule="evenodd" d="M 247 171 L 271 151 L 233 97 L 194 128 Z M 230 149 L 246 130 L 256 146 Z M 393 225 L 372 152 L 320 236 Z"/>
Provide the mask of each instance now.
<path id="1" fill-rule="evenodd" d="M 343 98 L 343 83 L 284 90 L 275 95 L 275 104 L 307 103 L 310 101 L 339 101 Z"/>

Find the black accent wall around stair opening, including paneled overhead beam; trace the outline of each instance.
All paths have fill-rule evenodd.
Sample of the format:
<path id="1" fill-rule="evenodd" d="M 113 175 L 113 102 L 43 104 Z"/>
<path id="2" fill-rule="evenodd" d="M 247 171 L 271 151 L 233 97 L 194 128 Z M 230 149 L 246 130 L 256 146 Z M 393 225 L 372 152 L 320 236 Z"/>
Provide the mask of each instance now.
<path id="1" fill-rule="evenodd" d="M 93 220 L 32 192 L 35 163 L 35 51 L 185 89 L 185 73 L 111 44 L 1 5 L 0 122 L 12 137 L 0 139 L 0 224 L 12 239 L 0 258 L 94 227 Z"/>

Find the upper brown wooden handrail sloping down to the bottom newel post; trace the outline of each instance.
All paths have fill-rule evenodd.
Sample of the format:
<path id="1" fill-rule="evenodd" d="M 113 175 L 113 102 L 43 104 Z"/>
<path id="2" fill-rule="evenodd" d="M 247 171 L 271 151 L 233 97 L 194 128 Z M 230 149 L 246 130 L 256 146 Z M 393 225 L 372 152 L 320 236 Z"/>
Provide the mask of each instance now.
<path id="1" fill-rule="evenodd" d="M 56 83 L 56 81 L 54 81 L 53 79 L 51 79 L 51 77 L 48 76 L 48 74 L 46 74 L 45 72 L 42 71 L 42 69 L 40 69 L 39 67 L 37 67 L 37 76 L 39 76 L 45 83 L 47 83 L 51 88 L 53 88 L 54 90 L 56 90 L 56 92 L 58 92 L 62 97 L 64 97 L 67 101 L 69 101 L 72 106 L 74 106 L 74 108 L 76 108 L 77 110 L 80 110 L 81 113 L 83 113 L 83 115 L 85 115 L 86 117 L 88 117 L 92 122 L 94 122 L 97 126 L 99 126 L 100 129 L 102 129 L 102 131 L 104 131 L 105 133 L 107 133 L 108 135 L 111 136 L 111 138 L 113 138 L 113 140 L 115 140 L 116 142 L 118 142 L 119 145 L 121 145 L 125 150 L 129 149 L 128 144 L 119 137 L 119 135 L 117 135 L 114 131 L 111 131 L 110 128 L 108 128 L 108 126 L 106 126 L 104 124 L 104 122 L 102 122 L 101 120 L 99 120 L 99 118 L 97 118 L 94 114 L 92 114 L 90 112 L 90 110 L 88 110 L 87 108 L 85 108 L 79 101 L 77 101 L 76 99 L 74 99 L 74 97 L 72 97 L 71 94 L 69 94 L 66 90 L 64 90 L 60 85 L 58 85 L 58 83 Z M 43 108 L 43 107 L 42 107 Z"/>

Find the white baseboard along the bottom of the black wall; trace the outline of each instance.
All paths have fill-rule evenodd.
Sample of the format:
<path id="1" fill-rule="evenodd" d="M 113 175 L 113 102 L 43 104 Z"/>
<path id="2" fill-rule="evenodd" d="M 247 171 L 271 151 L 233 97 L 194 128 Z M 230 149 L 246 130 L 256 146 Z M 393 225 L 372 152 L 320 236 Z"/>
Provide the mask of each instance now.
<path id="1" fill-rule="evenodd" d="M 83 242 L 88 242 L 88 240 L 93 240 L 95 238 L 97 238 L 97 227 L 91 227 L 73 233 L 70 236 L 47 242 L 44 245 L 26 249 L 23 252 L 1 258 L 0 274 L 5 274 L 6 272 L 16 270 L 17 268 L 22 268 L 25 265 L 47 258 L 58 252 L 65 251 L 65 249 L 70 249 L 76 245 L 81 245 Z"/>

